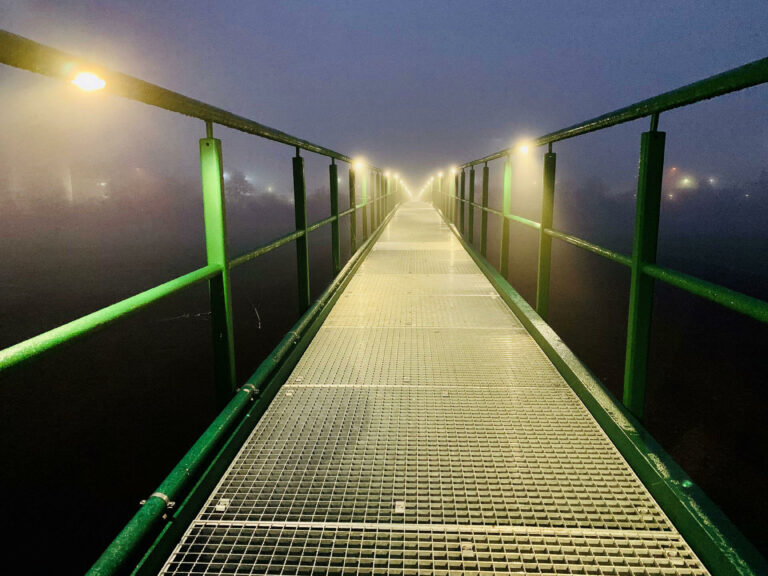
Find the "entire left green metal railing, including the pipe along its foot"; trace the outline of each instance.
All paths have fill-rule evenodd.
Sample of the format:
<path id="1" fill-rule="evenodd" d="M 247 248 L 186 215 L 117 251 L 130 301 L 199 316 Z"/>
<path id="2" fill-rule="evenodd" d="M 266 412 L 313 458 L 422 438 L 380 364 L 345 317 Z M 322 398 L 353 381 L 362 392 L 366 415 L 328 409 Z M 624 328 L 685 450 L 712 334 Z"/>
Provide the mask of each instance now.
<path id="1" fill-rule="evenodd" d="M 354 166 L 350 157 L 323 146 L 2 30 L 0 30 L 0 63 L 67 82 L 71 81 L 78 71 L 95 72 L 106 81 L 105 90 L 111 94 L 191 116 L 202 120 L 205 124 L 206 135 L 200 140 L 200 170 L 207 265 L 0 351 L 0 372 L 2 372 L 33 361 L 49 350 L 94 333 L 151 304 L 208 281 L 216 396 L 223 410 L 157 491 L 147 498 L 134 518 L 91 569 L 92 574 L 113 574 L 124 570 L 129 562 L 136 559 L 139 546 L 151 537 L 153 531 L 158 530 L 161 520 L 168 518 L 173 501 L 184 497 L 184 491 L 196 482 L 197 476 L 205 472 L 209 461 L 223 450 L 222 444 L 228 444 L 236 429 L 242 425 L 243 419 L 254 410 L 254 401 L 261 404 L 268 403 L 269 398 L 264 396 L 264 386 L 281 368 L 288 355 L 298 349 L 299 343 L 310 334 L 310 329 L 317 320 L 327 313 L 324 310 L 334 298 L 335 292 L 345 281 L 348 281 L 348 276 L 359 265 L 362 255 L 370 249 L 376 235 L 397 205 L 399 185 L 395 182 L 393 186 L 391 178 L 385 176 L 381 169 L 375 166 Z M 228 252 L 222 145 L 221 140 L 213 136 L 214 125 L 226 126 L 295 148 L 293 191 L 296 230 L 235 258 L 231 258 Z M 313 224 L 307 221 L 302 150 L 330 159 L 331 216 Z M 343 212 L 339 211 L 337 162 L 350 164 L 350 207 Z M 362 189 L 360 203 L 357 202 L 358 184 Z M 357 233 L 359 211 L 362 212 L 362 237 L 358 237 Z M 349 218 L 352 256 L 347 265 L 342 268 L 339 222 L 344 217 Z M 329 224 L 331 226 L 331 265 L 335 280 L 318 300 L 312 303 L 309 281 L 309 233 Z M 241 380 L 235 373 L 230 272 L 233 268 L 290 242 L 296 246 L 297 288 L 301 318 L 259 366 L 256 373 L 238 388 L 238 382 Z"/>

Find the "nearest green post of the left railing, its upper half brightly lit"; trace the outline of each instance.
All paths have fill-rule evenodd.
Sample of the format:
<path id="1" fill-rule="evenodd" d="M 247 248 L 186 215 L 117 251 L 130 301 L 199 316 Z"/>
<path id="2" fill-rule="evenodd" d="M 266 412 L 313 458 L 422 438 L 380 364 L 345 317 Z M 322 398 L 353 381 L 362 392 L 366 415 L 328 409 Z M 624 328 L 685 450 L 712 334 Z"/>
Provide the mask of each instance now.
<path id="1" fill-rule="evenodd" d="M 224 171 L 221 140 L 213 137 L 213 124 L 206 122 L 206 138 L 200 140 L 200 175 L 203 185 L 205 249 L 208 264 L 221 273 L 208 282 L 211 302 L 216 402 L 225 406 L 235 392 L 235 338 L 232 322 L 232 291 L 227 254 L 227 218 L 224 202 Z"/>

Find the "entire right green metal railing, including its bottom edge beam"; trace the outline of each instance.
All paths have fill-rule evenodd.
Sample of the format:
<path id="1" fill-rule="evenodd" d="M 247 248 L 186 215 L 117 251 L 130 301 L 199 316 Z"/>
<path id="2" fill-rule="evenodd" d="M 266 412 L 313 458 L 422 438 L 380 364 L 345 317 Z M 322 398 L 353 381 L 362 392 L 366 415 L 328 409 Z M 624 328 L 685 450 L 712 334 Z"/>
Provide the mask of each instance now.
<path id="1" fill-rule="evenodd" d="M 768 58 L 536 139 L 532 145 L 547 146 L 544 155 L 541 222 L 512 214 L 510 210 L 513 148 L 461 165 L 458 168 L 461 174 L 455 174 L 453 191 L 443 190 L 442 177 L 433 179 L 430 188 L 434 206 L 452 225 L 454 232 L 462 239 L 481 270 L 515 311 L 713 574 L 763 574 L 768 570 L 768 563 L 642 426 L 654 281 L 659 280 L 764 323 L 768 323 L 768 302 L 656 264 L 665 143 L 665 133 L 658 130 L 659 115 L 673 108 L 766 82 Z M 552 151 L 552 145 L 567 138 L 647 116 L 650 116 L 650 130 L 641 136 L 632 254 L 621 254 L 555 230 L 552 227 L 552 216 L 557 156 Z M 499 158 L 505 159 L 502 210 L 495 210 L 488 206 L 488 162 Z M 481 203 L 477 204 L 472 191 L 475 166 L 479 164 L 483 165 L 483 188 Z M 467 168 L 470 189 L 468 199 L 465 197 L 463 186 Z M 476 238 L 473 232 L 475 208 L 481 211 L 479 254 L 475 251 Z M 465 210 L 469 213 L 469 226 L 463 223 Z M 489 214 L 499 217 L 502 222 L 498 271 L 485 259 Z M 535 311 L 507 282 L 511 222 L 539 231 Z M 631 270 L 623 405 L 614 401 L 602 383 L 589 373 L 544 322 L 549 309 L 553 238 L 627 266 Z"/>

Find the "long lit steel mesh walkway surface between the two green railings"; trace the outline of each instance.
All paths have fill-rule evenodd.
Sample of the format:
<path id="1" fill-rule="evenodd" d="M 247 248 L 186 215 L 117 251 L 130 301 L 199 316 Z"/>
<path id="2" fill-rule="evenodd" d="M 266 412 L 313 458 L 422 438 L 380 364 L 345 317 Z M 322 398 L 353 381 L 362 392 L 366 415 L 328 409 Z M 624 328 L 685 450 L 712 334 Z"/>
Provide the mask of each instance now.
<path id="1" fill-rule="evenodd" d="M 402 206 L 164 574 L 706 574 L 427 204 Z"/>

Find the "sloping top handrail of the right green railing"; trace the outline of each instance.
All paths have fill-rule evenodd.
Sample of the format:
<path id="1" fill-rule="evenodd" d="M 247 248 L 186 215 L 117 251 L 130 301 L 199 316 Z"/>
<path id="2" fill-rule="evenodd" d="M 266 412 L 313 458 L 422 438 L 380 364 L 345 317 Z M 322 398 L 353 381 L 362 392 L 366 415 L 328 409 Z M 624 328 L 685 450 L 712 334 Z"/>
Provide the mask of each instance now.
<path id="1" fill-rule="evenodd" d="M 597 116 L 591 120 L 574 124 L 562 130 L 546 134 L 533 141 L 534 146 L 544 146 L 552 142 L 558 142 L 560 140 L 566 140 L 573 138 L 574 136 L 580 136 L 589 132 L 595 132 L 608 128 L 610 126 L 616 126 L 617 124 L 623 124 L 625 122 L 631 122 L 639 118 L 651 116 L 652 114 L 659 114 L 667 110 L 674 108 L 680 108 L 681 106 L 688 106 L 689 104 L 695 104 L 702 100 L 708 100 L 731 92 L 737 92 L 757 86 L 768 82 L 768 58 L 762 58 L 755 60 L 744 66 L 733 68 L 721 74 L 710 76 L 704 80 L 699 80 L 692 84 L 687 84 L 681 88 L 664 92 L 653 98 L 641 100 L 635 104 L 619 108 L 613 112 Z M 476 164 L 484 164 L 491 160 L 502 158 L 514 150 L 514 146 L 505 148 L 494 154 L 490 154 L 477 160 L 472 160 L 466 164 L 462 164 L 460 168 L 466 168 L 468 166 Z"/>

